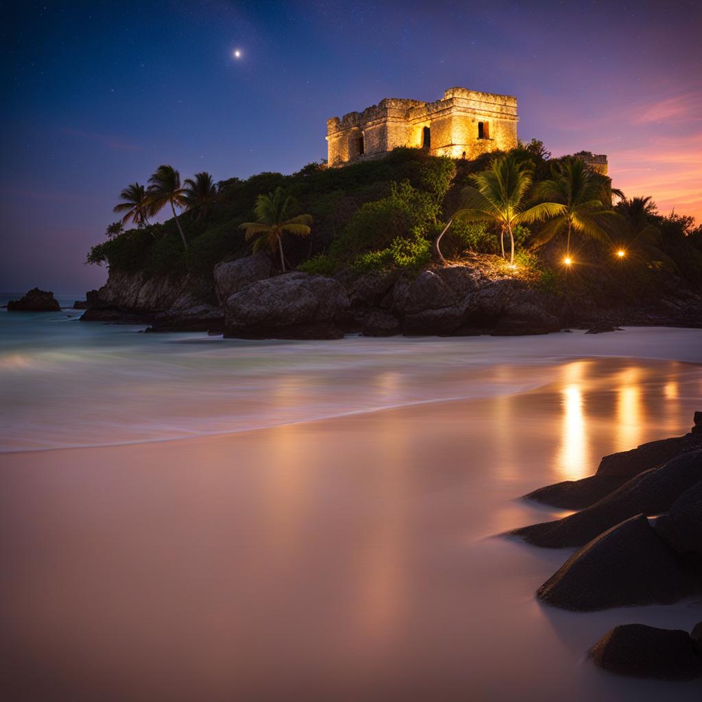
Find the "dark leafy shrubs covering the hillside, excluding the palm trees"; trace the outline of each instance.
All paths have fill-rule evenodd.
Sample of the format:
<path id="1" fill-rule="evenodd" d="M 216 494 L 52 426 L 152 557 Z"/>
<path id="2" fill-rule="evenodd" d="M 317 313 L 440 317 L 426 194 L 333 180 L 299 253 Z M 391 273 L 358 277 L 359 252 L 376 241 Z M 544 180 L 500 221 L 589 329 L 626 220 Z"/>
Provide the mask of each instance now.
<path id="1" fill-rule="evenodd" d="M 396 149 L 383 159 L 345 168 L 308 164 L 290 176 L 259 173 L 247 180 L 232 178 L 218 183 L 206 217 L 198 220 L 187 212 L 180 215 L 187 250 L 171 219 L 128 230 L 94 246 L 88 263 L 151 274 L 190 272 L 211 277 L 216 263 L 250 253 L 251 243 L 245 241 L 239 225 L 254 220 L 259 194 L 282 187 L 295 199 L 296 211 L 309 213 L 314 220 L 309 237 L 285 235 L 284 249 L 291 265 L 322 274 L 332 274 L 340 267 L 359 272 L 392 267 L 416 270 L 432 262 L 431 241 L 461 206 L 468 176 L 483 171 L 500 155 L 452 161 L 430 157 L 419 149 Z M 551 177 L 557 161 L 539 143 L 522 145 L 512 155 L 531 171 L 531 197 L 538 183 Z M 611 183 L 604 178 L 603 184 L 611 207 Z M 656 296 L 661 286 L 667 289 L 681 280 L 699 286 L 701 227 L 694 229 L 691 218 L 662 217 L 650 204 L 644 213 L 632 213 L 625 204 L 615 207 L 621 213 L 618 225 L 609 232 L 610 241 L 576 241 L 577 269 L 562 265 L 559 238 L 536 246 L 544 225 L 515 227 L 517 269 L 505 269 L 505 274 L 522 275 L 559 294 L 588 291 L 597 297 L 630 300 Z M 635 221 L 635 217 L 643 219 Z M 626 247 L 625 259 L 613 256 L 616 246 Z M 442 251 L 448 259 L 472 256 L 475 260 L 475 253 L 498 254 L 500 246 L 491 225 L 456 220 L 442 239 Z"/>

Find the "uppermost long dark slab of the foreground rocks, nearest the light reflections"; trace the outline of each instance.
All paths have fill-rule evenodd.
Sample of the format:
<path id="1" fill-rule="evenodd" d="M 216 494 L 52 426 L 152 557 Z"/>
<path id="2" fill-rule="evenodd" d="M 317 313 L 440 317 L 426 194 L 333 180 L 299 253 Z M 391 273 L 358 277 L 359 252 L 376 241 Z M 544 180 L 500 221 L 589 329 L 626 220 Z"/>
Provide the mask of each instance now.
<path id="1" fill-rule="evenodd" d="M 702 416 L 702 413 L 695 414 Z M 629 478 L 640 475 L 645 470 L 657 468 L 684 451 L 702 448 L 702 432 L 697 432 L 698 428 L 702 428 L 702 424 L 696 424 L 692 432 L 682 437 L 660 439 L 630 451 L 604 456 L 595 475 L 548 485 L 529 493 L 526 497 L 567 510 L 589 507 L 623 485 Z"/>

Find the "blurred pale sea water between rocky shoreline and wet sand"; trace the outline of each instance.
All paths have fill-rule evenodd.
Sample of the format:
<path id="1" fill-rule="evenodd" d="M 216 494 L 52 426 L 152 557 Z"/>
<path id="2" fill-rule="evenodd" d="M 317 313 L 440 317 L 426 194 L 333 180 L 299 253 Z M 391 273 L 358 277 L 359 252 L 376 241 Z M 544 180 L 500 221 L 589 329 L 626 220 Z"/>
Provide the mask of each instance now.
<path id="1" fill-rule="evenodd" d="M 702 332 L 685 329 L 251 341 L 145 334 L 80 315 L 0 310 L 0 451 L 217 435 L 505 395 L 550 382 L 553 367 L 581 356 L 702 362 Z"/>

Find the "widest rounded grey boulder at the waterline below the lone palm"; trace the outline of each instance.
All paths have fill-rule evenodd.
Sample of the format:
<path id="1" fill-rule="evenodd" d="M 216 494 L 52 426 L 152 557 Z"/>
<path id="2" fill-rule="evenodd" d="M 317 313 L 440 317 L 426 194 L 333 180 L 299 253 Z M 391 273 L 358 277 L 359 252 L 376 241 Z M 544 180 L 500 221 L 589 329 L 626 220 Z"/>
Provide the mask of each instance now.
<path id="1" fill-rule="evenodd" d="M 338 320 L 349 306 L 336 280 L 286 273 L 253 283 L 227 300 L 225 336 L 239 338 L 340 338 Z"/>

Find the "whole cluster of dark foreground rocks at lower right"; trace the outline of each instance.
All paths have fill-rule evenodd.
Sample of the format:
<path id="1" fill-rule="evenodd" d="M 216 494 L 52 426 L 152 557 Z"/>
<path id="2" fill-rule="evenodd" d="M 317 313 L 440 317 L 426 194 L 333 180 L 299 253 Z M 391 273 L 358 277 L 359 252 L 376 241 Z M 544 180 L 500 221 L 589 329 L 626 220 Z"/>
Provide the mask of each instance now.
<path id="1" fill-rule="evenodd" d="M 537 590 L 545 604 L 573 611 L 671 604 L 702 593 L 702 412 L 682 437 L 602 458 L 597 473 L 527 498 L 576 509 L 515 529 L 545 548 L 580 547 Z M 702 676 L 702 623 L 693 633 L 618 626 L 590 651 L 624 675 Z"/>

